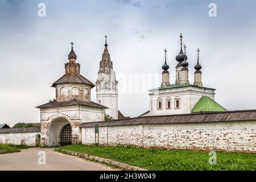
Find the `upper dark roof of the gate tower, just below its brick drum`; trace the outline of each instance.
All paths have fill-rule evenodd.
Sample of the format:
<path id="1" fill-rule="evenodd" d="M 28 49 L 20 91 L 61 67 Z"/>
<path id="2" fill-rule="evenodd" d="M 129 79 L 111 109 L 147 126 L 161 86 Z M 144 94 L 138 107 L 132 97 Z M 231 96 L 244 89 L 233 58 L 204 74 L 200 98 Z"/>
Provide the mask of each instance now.
<path id="1" fill-rule="evenodd" d="M 88 84 L 92 87 L 95 86 L 92 82 L 87 80 L 85 77 L 81 76 L 80 74 L 73 74 L 73 75 L 63 75 L 59 80 L 55 81 L 52 86 L 55 87 L 57 84 Z"/>

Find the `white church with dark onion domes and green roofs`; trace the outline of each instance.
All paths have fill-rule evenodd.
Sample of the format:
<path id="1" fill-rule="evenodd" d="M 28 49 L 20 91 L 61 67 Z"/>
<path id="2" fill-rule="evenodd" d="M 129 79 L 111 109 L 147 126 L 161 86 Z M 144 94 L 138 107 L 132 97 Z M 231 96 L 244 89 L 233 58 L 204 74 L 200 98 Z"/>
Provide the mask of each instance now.
<path id="1" fill-rule="evenodd" d="M 162 84 L 159 88 L 149 90 L 150 110 L 139 117 L 147 115 L 187 114 L 205 111 L 226 111 L 214 101 L 215 89 L 206 88 L 202 83 L 202 68 L 200 65 L 200 49 L 197 49 L 197 64 L 195 65 L 194 82 L 188 80 L 188 57 L 183 36 L 180 33 L 180 52 L 176 56 L 175 84 L 170 84 L 167 50 L 164 50 L 164 65 L 162 66 Z M 199 102 L 200 101 L 200 102 Z"/>

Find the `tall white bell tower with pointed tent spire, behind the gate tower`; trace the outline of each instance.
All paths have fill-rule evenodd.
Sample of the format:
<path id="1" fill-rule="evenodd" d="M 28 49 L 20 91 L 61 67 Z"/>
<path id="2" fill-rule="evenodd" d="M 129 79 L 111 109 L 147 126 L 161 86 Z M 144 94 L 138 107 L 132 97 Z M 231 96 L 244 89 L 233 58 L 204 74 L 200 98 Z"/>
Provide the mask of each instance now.
<path id="1" fill-rule="evenodd" d="M 118 119 L 118 81 L 115 80 L 113 63 L 110 59 L 107 36 L 105 35 L 105 48 L 100 61 L 100 71 L 96 81 L 96 100 L 105 109 L 105 113 Z"/>

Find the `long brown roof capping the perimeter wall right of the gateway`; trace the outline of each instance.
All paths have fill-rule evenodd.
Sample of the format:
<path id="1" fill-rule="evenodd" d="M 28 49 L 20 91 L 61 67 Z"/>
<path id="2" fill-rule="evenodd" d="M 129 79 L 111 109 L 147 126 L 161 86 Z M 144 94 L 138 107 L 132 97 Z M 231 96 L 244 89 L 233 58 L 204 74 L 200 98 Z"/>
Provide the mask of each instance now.
<path id="1" fill-rule="evenodd" d="M 238 110 L 210 113 L 192 113 L 176 115 L 157 115 L 140 118 L 119 119 L 106 122 L 82 123 L 81 127 L 121 126 L 141 124 L 167 124 L 167 123 L 206 123 L 206 122 L 232 122 L 232 121 L 256 121 L 256 110 Z"/>

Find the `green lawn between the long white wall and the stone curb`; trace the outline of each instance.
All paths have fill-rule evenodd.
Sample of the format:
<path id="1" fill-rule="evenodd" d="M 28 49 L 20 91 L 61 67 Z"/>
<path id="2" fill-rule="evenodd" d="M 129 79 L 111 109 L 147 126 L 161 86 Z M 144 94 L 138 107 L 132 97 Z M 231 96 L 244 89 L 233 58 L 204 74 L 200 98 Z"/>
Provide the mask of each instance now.
<path id="1" fill-rule="evenodd" d="M 206 151 L 162 150 L 134 146 L 86 146 L 74 144 L 58 147 L 148 170 L 256 170 L 256 154 L 217 152 L 217 164 L 209 164 Z"/>

